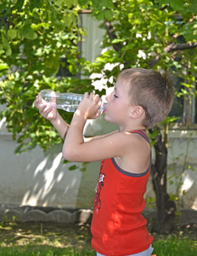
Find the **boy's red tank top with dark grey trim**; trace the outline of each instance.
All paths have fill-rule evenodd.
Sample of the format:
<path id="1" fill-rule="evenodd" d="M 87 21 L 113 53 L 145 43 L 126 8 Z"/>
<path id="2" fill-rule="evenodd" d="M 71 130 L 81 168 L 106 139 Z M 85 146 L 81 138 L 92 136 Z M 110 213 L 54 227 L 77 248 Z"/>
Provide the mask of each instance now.
<path id="1" fill-rule="evenodd" d="M 143 131 L 138 133 L 149 142 Z M 93 206 L 92 247 L 103 255 L 123 256 L 141 253 L 153 241 L 142 213 L 149 168 L 143 173 L 122 170 L 115 160 L 103 160 L 100 166 Z"/>

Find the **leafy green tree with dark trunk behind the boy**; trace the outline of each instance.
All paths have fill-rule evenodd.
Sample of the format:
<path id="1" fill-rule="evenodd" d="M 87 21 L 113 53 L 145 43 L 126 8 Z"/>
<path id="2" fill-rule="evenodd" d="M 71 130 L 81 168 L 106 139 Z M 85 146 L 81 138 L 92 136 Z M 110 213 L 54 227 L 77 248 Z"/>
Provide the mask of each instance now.
<path id="1" fill-rule="evenodd" d="M 48 148 L 60 143 L 57 133 L 32 107 L 38 91 L 92 90 L 96 79 L 77 79 L 91 73 L 102 73 L 107 85 L 113 86 L 122 68 L 151 67 L 171 69 L 184 79 L 177 96 L 194 94 L 194 73 L 197 68 L 197 0 L 41 0 L 0 1 L 0 101 L 7 109 L 1 113 L 8 121 L 8 131 L 18 139 L 22 152 L 40 144 Z M 92 63 L 80 57 L 77 44 L 83 29 L 78 13 L 91 10 L 106 31 L 105 51 Z M 67 62 L 61 63 L 61 59 Z M 108 69 L 106 64 L 110 63 Z M 66 65 L 69 76 L 57 77 L 60 66 Z M 74 77 L 71 77 L 73 75 Z M 104 91 L 98 92 L 100 94 Z M 196 92 L 195 92 L 196 93 Z M 194 96 L 194 95 L 193 95 Z M 64 114 L 64 113 L 63 113 Z M 68 119 L 68 117 L 66 116 Z M 155 230 L 173 227 L 176 207 L 169 201 L 166 189 L 167 123 L 150 130 L 155 137 L 155 165 L 152 168 L 158 216 Z"/>

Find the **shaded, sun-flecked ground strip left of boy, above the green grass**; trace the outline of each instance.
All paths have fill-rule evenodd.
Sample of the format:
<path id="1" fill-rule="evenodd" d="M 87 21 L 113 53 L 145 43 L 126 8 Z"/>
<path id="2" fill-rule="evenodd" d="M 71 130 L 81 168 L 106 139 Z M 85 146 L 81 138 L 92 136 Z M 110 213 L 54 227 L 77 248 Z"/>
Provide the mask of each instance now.
<path id="1" fill-rule="evenodd" d="M 92 252 L 91 238 L 89 225 L 28 222 L 0 226 L 1 247 L 48 245 Z"/>

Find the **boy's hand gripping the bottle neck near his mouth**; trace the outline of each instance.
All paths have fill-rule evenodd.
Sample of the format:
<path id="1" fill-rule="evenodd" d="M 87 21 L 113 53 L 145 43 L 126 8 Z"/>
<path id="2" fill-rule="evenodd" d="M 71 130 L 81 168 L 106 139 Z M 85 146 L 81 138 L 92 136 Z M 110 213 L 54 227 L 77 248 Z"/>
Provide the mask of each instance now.
<path id="1" fill-rule="evenodd" d="M 79 107 L 76 109 L 76 114 L 84 116 L 85 119 L 96 119 L 101 113 L 98 110 L 101 104 L 102 100 L 98 94 L 91 93 L 88 96 L 88 92 L 86 92 L 82 102 L 80 102 Z"/>

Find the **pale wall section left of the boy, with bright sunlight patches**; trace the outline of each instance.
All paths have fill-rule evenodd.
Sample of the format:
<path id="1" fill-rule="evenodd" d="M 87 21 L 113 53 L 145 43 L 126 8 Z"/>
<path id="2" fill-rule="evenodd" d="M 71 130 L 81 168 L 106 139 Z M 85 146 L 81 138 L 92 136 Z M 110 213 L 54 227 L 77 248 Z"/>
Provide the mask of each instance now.
<path id="1" fill-rule="evenodd" d="M 87 124 L 87 135 L 101 133 L 103 119 L 92 127 Z M 38 147 L 20 155 L 14 154 L 17 143 L 0 122 L 0 204 L 39 207 L 92 207 L 99 172 L 99 162 L 64 164 L 62 145 L 47 152 Z M 113 125 L 105 129 L 111 131 Z M 76 165 L 74 171 L 69 167 Z M 81 172 L 82 167 L 86 172 Z"/>

